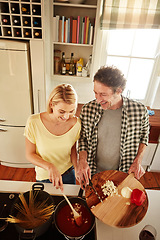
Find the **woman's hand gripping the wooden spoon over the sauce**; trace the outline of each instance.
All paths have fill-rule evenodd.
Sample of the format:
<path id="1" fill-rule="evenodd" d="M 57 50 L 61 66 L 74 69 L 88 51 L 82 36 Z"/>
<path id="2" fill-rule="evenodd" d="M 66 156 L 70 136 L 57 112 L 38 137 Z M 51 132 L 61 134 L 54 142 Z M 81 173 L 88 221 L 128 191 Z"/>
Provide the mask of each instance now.
<path id="1" fill-rule="evenodd" d="M 63 192 L 62 176 L 58 169 L 52 163 L 49 163 L 47 170 L 49 173 L 49 180 L 53 183 L 53 186 L 57 189 L 60 188 Z"/>

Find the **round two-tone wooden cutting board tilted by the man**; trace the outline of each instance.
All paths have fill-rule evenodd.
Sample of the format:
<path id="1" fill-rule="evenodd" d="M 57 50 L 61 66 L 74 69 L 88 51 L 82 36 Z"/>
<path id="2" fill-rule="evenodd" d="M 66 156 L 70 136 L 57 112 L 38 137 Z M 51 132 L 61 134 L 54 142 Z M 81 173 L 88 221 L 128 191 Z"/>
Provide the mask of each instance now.
<path id="1" fill-rule="evenodd" d="M 118 188 L 118 195 L 106 197 L 103 195 L 101 186 L 107 180 L 113 181 Z M 85 189 L 85 197 L 88 207 L 92 213 L 102 222 L 113 227 L 127 228 L 139 223 L 145 216 L 148 209 L 148 197 L 143 185 L 134 178 L 133 174 L 108 170 L 95 174 L 92 177 L 92 183 L 97 190 L 103 203 L 99 201 L 93 189 L 87 186 Z M 138 188 L 146 194 L 146 200 L 141 206 L 130 203 L 130 199 L 120 195 L 123 187 L 129 187 L 132 190 Z M 130 204 L 130 205 L 128 205 Z"/>

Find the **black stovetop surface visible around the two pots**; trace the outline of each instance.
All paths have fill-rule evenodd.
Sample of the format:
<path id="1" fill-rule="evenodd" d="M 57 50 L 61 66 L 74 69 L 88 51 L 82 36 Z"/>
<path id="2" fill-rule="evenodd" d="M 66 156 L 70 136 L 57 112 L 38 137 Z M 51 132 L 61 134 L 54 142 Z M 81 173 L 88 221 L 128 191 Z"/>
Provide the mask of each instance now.
<path id="1" fill-rule="evenodd" d="M 8 217 L 11 211 L 11 207 L 18 197 L 18 193 L 0 193 L 0 217 Z M 54 203 L 57 205 L 64 198 L 63 196 L 53 196 Z M 3 227 L 0 224 L 0 239 L 1 240 L 19 240 L 19 233 L 17 232 L 13 223 L 8 223 L 6 228 L 3 230 Z M 63 236 L 55 227 L 54 223 L 52 223 L 51 227 L 41 236 L 37 237 L 35 240 L 66 240 L 65 236 Z M 83 240 L 96 240 L 96 231 L 95 227 L 92 229 L 90 233 L 88 233 Z"/>

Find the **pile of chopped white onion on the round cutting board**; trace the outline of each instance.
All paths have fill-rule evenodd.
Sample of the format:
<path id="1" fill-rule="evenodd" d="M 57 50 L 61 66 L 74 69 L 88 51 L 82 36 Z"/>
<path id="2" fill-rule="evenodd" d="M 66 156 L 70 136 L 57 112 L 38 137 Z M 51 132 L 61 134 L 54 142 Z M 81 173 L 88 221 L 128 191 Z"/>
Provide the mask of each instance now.
<path id="1" fill-rule="evenodd" d="M 118 195 L 118 189 L 112 181 L 107 180 L 105 184 L 101 186 L 103 194 L 106 196 Z"/>

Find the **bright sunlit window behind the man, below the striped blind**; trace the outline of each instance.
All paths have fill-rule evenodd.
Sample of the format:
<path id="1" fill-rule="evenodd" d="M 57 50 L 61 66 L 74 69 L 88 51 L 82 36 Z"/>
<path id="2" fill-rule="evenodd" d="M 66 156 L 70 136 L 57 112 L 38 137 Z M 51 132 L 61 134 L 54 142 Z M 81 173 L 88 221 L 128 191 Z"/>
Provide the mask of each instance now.
<path id="1" fill-rule="evenodd" d="M 106 51 L 101 65 L 119 68 L 127 79 L 124 95 L 146 104 L 148 90 L 157 81 L 160 30 L 103 31 L 103 42 Z"/>

